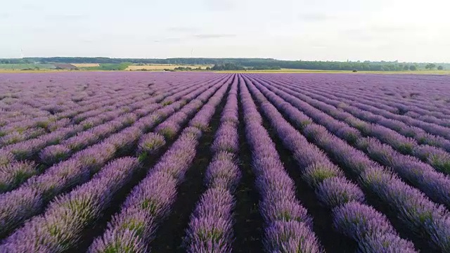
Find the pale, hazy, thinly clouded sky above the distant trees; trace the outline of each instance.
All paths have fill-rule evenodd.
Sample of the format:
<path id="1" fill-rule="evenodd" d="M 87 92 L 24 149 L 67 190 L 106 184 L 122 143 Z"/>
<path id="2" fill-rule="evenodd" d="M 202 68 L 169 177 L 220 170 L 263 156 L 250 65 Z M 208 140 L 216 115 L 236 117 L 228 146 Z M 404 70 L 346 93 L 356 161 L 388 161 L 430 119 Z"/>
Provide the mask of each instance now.
<path id="1" fill-rule="evenodd" d="M 14 0 L 0 58 L 276 58 L 450 63 L 450 1 Z"/>

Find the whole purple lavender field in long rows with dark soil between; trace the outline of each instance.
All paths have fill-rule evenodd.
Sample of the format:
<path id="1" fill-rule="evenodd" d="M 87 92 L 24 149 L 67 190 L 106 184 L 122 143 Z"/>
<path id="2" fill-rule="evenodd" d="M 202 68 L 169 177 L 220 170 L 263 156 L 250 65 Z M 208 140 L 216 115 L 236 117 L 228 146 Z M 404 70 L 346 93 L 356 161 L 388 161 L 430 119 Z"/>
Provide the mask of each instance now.
<path id="1" fill-rule="evenodd" d="M 450 252 L 450 77 L 0 75 L 0 252 Z"/>

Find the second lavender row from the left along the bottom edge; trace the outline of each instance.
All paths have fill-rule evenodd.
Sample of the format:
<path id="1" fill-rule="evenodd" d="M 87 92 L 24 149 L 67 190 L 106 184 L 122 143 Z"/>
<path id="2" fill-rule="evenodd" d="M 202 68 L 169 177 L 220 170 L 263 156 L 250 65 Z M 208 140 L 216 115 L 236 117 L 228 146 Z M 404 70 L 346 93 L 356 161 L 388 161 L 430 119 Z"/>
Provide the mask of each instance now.
<path id="1" fill-rule="evenodd" d="M 155 237 L 155 231 L 160 223 L 171 212 L 176 200 L 176 188 L 191 167 L 198 141 L 209 125 L 228 86 L 228 82 L 222 85 L 191 119 L 189 127 L 181 133 L 158 164 L 149 170 L 146 178 L 131 191 L 120 213 L 108 223 L 108 230 L 94 241 L 89 252 L 127 252 L 127 249 L 132 252 L 147 252 L 149 250 L 148 244 Z M 215 89 L 210 91 L 214 92 Z M 176 115 L 173 117 L 176 118 Z M 160 131 L 164 134 L 168 132 L 173 134 L 172 131 L 167 131 L 168 126 L 171 126 L 172 130 L 180 127 L 172 122 L 172 124 L 163 125 Z"/>

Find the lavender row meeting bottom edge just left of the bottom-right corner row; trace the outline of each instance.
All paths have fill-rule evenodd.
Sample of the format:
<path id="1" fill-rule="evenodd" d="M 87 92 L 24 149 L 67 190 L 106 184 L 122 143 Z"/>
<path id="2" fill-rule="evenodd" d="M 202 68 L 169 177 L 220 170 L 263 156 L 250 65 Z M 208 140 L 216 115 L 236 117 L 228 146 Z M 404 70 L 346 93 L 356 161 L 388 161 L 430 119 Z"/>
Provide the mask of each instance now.
<path id="1" fill-rule="evenodd" d="M 373 207 L 364 205 L 365 197 L 362 190 L 347 180 L 343 171 L 335 166 L 328 157 L 308 143 L 292 125 L 281 115 L 276 107 L 287 112 L 295 122 L 310 122 L 302 117 L 292 105 L 282 98 L 267 92 L 265 95 L 272 100 L 272 105 L 263 93 L 245 78 L 252 95 L 259 101 L 262 112 L 269 119 L 283 145 L 291 150 L 302 171 L 304 181 L 314 188 L 317 199 L 328 209 L 333 209 L 335 229 L 358 242 L 361 252 L 415 252 L 411 242 L 399 238 L 387 218 Z M 255 82 L 255 81 L 253 81 Z M 255 82 L 257 84 L 257 82 Z M 311 124 L 311 123 L 309 123 Z"/>

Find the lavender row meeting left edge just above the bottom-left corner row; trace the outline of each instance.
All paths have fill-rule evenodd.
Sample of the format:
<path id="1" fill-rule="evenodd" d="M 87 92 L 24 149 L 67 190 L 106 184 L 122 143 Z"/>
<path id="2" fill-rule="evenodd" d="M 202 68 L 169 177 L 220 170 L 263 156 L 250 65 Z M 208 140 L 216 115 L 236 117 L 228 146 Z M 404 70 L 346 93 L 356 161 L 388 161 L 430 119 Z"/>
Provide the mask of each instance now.
<path id="1" fill-rule="evenodd" d="M 1 234 L 5 235 L 34 214 L 39 214 L 59 193 L 88 181 L 90 176 L 95 174 L 105 162 L 113 159 L 115 154 L 131 148 L 143 132 L 152 129 L 162 119 L 169 117 L 186 102 L 193 100 L 213 85 L 217 89 L 221 86 L 221 82 L 210 82 L 206 85 L 200 83 L 191 87 L 190 93 L 176 103 L 142 117 L 132 126 L 105 138 L 101 143 L 80 151 L 70 160 L 50 167 L 44 174 L 32 177 L 17 190 L 0 195 Z M 202 99 L 205 100 L 207 97 L 203 96 Z"/>

